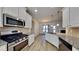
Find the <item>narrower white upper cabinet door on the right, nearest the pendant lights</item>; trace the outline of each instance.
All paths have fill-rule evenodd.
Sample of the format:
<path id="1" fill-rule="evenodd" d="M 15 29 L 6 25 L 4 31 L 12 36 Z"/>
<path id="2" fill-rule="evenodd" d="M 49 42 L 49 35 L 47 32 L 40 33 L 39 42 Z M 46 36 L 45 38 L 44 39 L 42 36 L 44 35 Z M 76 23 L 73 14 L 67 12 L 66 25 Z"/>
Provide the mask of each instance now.
<path id="1" fill-rule="evenodd" d="M 63 27 L 67 27 L 69 25 L 69 8 L 64 8 L 62 10 L 62 16 L 63 16 Z"/>

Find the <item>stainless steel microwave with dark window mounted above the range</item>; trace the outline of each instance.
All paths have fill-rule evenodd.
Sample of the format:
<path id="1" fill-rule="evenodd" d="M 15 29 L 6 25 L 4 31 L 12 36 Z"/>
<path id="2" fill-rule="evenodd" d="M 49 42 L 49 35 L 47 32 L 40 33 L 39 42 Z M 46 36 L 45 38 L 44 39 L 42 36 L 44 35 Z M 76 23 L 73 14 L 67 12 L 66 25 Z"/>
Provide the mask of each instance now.
<path id="1" fill-rule="evenodd" d="M 3 14 L 3 25 L 4 26 L 19 26 L 24 27 L 25 21 L 17 20 L 16 17 L 13 17 L 8 14 Z"/>

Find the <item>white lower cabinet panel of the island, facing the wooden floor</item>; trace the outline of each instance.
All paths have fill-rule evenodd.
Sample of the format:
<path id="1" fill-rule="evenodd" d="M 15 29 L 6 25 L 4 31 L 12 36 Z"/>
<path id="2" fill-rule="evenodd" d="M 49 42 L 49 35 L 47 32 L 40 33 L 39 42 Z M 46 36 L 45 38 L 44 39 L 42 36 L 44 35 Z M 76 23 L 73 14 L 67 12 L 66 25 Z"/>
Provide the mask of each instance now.
<path id="1" fill-rule="evenodd" d="M 46 33 L 45 34 L 45 39 L 53 44 L 54 46 L 56 46 L 57 48 L 59 48 L 59 39 L 58 39 L 58 36 L 56 36 L 55 34 L 49 34 L 49 33 Z"/>

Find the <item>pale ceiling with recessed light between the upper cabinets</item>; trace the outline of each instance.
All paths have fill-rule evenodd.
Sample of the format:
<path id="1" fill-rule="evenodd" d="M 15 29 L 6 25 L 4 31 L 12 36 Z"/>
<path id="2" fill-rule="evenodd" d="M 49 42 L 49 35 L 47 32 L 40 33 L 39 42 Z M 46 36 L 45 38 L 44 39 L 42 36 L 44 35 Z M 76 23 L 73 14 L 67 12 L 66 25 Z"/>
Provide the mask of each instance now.
<path id="1" fill-rule="evenodd" d="M 38 12 L 34 10 L 37 9 Z M 34 19 L 38 19 L 40 22 L 44 19 L 50 18 L 50 21 L 58 19 L 58 11 L 61 11 L 62 7 L 28 7 L 27 10 L 33 16 Z M 61 14 L 59 15 L 61 17 Z M 48 20 L 46 20 L 48 22 Z"/>

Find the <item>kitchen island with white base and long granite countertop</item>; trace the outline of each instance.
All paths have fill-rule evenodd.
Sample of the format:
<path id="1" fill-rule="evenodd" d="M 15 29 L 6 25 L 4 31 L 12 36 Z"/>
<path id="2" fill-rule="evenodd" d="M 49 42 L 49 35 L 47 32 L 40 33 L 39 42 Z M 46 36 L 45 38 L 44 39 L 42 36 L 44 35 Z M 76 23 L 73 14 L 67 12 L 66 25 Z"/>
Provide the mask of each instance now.
<path id="1" fill-rule="evenodd" d="M 45 39 L 58 49 L 60 49 L 60 43 L 62 42 L 64 43 L 63 45 L 69 49 L 69 51 L 79 51 L 79 38 L 77 37 L 69 36 L 63 33 L 46 33 Z"/>

